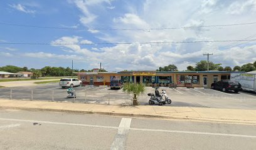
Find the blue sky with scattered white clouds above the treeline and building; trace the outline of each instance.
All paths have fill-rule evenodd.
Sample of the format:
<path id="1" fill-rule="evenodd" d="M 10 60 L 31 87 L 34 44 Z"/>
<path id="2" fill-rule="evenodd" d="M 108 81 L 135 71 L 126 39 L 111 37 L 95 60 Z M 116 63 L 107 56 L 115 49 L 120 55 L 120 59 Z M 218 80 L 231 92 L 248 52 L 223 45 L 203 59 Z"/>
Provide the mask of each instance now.
<path id="1" fill-rule="evenodd" d="M 0 66 L 71 68 L 73 60 L 74 69 L 182 71 L 213 53 L 210 61 L 233 68 L 256 61 L 256 41 L 190 41 L 256 39 L 255 16 L 256 0 L 1 0 Z"/>

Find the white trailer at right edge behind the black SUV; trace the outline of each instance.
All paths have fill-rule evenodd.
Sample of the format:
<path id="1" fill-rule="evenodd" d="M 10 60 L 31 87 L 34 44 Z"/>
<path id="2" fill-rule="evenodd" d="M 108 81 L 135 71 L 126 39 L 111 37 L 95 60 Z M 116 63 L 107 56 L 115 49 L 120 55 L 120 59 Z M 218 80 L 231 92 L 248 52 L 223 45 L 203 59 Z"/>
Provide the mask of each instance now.
<path id="1" fill-rule="evenodd" d="M 256 71 L 248 73 L 231 73 L 230 81 L 237 81 L 242 85 L 242 89 L 256 92 Z"/>

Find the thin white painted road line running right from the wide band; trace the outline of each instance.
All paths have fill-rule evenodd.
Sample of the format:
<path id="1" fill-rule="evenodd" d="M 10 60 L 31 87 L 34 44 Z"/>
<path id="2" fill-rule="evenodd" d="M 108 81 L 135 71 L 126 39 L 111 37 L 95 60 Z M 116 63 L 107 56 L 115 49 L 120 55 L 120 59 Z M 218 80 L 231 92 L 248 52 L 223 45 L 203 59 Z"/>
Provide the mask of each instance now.
<path id="1" fill-rule="evenodd" d="M 241 138 L 256 138 L 256 136 L 243 135 L 243 134 L 203 133 L 203 132 L 195 132 L 195 131 L 161 130 L 161 129 L 141 129 L 141 128 L 130 128 L 130 130 L 135 130 L 135 131 L 164 132 L 164 133 L 203 134 L 203 135 L 211 135 L 211 136 L 233 136 L 233 137 L 241 137 Z"/>

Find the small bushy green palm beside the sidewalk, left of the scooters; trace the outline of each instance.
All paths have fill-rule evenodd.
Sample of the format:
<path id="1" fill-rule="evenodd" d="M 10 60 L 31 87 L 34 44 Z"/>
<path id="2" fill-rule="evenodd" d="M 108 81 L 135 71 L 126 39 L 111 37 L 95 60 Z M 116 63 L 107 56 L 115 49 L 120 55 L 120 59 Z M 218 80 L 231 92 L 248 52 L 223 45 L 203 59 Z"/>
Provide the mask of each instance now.
<path id="1" fill-rule="evenodd" d="M 125 83 L 123 91 L 125 93 L 132 94 L 132 104 L 138 105 L 138 96 L 144 93 L 145 86 L 144 84 Z"/>

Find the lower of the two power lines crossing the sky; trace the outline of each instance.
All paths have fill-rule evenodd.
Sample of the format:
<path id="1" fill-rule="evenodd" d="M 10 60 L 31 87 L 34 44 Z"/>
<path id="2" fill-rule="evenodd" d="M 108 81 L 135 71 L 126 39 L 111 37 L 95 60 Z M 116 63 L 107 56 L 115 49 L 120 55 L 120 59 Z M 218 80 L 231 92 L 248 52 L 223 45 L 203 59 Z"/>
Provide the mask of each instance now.
<path id="1" fill-rule="evenodd" d="M 213 41 L 173 41 L 173 42 L 139 42 L 139 44 L 171 44 L 171 43 L 195 43 L 195 42 L 242 42 L 256 41 L 256 39 L 238 40 L 213 40 Z M 136 42 L 98 42 L 98 43 L 44 43 L 44 42 L 0 42 L 0 44 L 22 44 L 22 45 L 108 45 L 108 44 L 134 44 Z"/>

